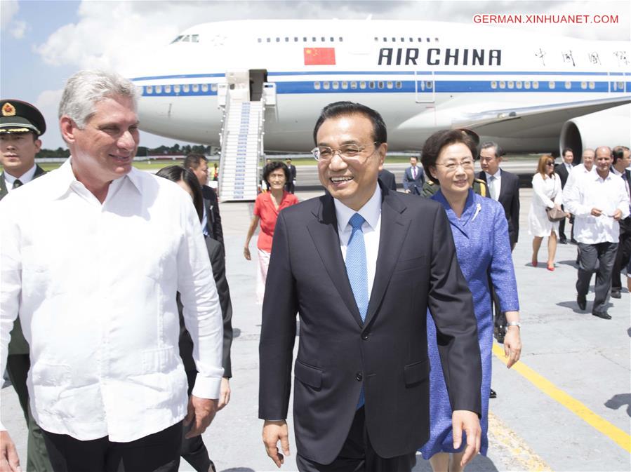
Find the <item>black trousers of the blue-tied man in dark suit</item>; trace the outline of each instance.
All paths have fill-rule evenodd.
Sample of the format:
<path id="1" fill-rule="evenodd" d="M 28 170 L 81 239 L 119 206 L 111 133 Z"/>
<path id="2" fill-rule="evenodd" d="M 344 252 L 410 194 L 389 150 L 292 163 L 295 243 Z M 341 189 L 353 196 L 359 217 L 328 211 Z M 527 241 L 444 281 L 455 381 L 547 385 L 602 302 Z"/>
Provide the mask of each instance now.
<path id="1" fill-rule="evenodd" d="M 379 457 L 366 431 L 364 407 L 359 408 L 338 457 L 331 464 L 318 464 L 296 455 L 300 472 L 409 472 L 416 465 L 416 451 L 404 456 Z"/>

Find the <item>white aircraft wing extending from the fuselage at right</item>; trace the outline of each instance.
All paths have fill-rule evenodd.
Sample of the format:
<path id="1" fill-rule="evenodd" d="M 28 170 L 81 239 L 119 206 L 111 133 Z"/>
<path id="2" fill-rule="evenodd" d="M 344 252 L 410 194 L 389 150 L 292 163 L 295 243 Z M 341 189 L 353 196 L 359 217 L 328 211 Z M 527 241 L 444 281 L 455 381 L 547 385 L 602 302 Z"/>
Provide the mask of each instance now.
<path id="1" fill-rule="evenodd" d="M 484 136 L 527 137 L 526 130 L 536 130 L 537 135 L 541 130 L 557 135 L 569 119 L 628 103 L 631 103 L 631 95 L 533 107 L 504 107 L 462 114 L 452 121 L 452 128 L 468 128 Z"/>

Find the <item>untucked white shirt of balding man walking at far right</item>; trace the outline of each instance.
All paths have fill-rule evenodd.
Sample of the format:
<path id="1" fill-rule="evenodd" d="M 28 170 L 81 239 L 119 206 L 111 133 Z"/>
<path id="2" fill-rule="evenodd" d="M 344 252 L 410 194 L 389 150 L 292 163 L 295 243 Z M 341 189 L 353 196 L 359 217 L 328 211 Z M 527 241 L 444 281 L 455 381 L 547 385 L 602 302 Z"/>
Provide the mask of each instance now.
<path id="1" fill-rule="evenodd" d="M 565 208 L 574 215 L 574 238 L 583 244 L 618 243 L 620 224 L 613 220 L 616 209 L 622 218 L 629 215 L 625 182 L 609 172 L 604 179 L 598 173 L 587 173 L 564 192 Z M 567 186 L 566 186 L 567 189 Z M 602 210 L 592 216 L 592 208 Z"/>

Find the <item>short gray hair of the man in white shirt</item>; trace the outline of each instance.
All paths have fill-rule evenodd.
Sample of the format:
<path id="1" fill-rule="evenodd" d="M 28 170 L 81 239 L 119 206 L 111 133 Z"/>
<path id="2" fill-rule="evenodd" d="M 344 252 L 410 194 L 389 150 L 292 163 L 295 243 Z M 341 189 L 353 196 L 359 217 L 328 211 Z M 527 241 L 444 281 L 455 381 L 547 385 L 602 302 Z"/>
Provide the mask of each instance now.
<path id="1" fill-rule="evenodd" d="M 102 70 L 79 71 L 66 82 L 59 104 L 59 118 L 69 116 L 79 128 L 84 128 L 94 114 L 95 104 L 114 95 L 129 97 L 134 109 L 138 106 L 138 91 L 124 76 Z"/>

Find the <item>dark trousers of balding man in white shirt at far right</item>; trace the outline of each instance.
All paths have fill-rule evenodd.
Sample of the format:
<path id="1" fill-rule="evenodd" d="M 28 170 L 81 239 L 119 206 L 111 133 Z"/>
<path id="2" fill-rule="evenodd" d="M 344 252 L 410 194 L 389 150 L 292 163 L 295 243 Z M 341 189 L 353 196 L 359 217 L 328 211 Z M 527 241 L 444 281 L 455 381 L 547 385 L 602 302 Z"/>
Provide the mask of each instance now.
<path id="1" fill-rule="evenodd" d="M 595 297 L 592 313 L 605 313 L 611 288 L 611 269 L 616 259 L 618 243 L 578 243 L 578 280 L 576 292 L 585 297 L 590 289 L 592 274 L 596 272 Z"/>

